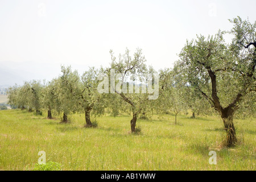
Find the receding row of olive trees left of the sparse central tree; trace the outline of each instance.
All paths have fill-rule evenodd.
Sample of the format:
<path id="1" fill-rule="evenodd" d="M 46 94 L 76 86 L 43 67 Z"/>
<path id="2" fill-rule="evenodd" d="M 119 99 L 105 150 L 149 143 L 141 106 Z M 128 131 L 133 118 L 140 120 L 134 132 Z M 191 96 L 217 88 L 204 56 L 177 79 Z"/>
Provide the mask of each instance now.
<path id="1" fill-rule="evenodd" d="M 12 86 L 7 90 L 9 104 L 28 109 L 36 114 L 42 114 L 42 109 L 48 111 L 52 119 L 52 110 L 63 113 L 63 123 L 68 122 L 68 115 L 75 112 L 85 112 L 86 127 L 91 127 L 90 113 L 103 113 L 103 94 L 97 92 L 97 75 L 99 71 L 90 68 L 81 77 L 71 67 L 61 66 L 61 76 L 47 83 L 32 80 L 22 86 Z"/>

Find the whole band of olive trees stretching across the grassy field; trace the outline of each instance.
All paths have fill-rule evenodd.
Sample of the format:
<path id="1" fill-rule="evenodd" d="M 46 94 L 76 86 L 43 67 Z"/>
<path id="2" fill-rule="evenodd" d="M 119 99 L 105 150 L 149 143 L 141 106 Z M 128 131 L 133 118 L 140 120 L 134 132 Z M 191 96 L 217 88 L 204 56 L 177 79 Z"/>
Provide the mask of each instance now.
<path id="1" fill-rule="evenodd" d="M 42 114 L 47 110 L 48 118 L 52 111 L 62 113 L 62 123 L 68 122 L 72 113 L 85 114 L 85 127 L 92 127 L 92 114 L 110 113 L 132 114 L 131 133 L 136 133 L 138 118 L 147 118 L 152 113 L 179 113 L 192 111 L 196 115 L 217 114 L 222 118 L 226 130 L 226 145 L 237 142 L 233 118 L 256 117 L 256 21 L 242 20 L 239 16 L 230 20 L 230 31 L 218 31 L 214 36 L 197 35 L 195 40 L 187 40 L 173 68 L 155 71 L 146 65 L 142 50 L 137 48 L 131 55 L 126 49 L 123 55 L 114 56 L 108 68 L 89 68 L 82 75 L 72 68 L 61 66 L 61 75 L 51 81 L 26 81 L 22 86 L 7 89 L 9 104 L 28 111 Z M 231 43 L 224 40 L 225 34 L 233 35 Z M 159 81 L 151 78 L 153 87 L 159 86 L 159 96 L 149 100 L 148 93 L 99 93 L 97 88 L 101 73 L 121 74 L 119 80 L 129 85 L 132 78 L 141 81 L 141 73 L 155 73 Z M 131 80 L 131 79 L 130 79 Z M 123 87 L 122 85 L 121 87 Z M 112 89 L 112 88 L 104 88 Z"/>

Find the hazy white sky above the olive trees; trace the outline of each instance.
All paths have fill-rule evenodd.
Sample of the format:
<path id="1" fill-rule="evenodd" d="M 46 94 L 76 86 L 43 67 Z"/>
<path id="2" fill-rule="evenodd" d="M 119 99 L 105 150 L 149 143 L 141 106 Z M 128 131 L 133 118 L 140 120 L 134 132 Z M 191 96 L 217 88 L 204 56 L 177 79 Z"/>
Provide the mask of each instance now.
<path id="1" fill-rule="evenodd" d="M 79 72 L 108 66 L 109 50 L 126 47 L 142 48 L 155 69 L 172 67 L 186 39 L 229 30 L 237 15 L 254 22 L 255 7 L 255 0 L 1 0 L 0 67 L 50 79 L 60 64 Z"/>

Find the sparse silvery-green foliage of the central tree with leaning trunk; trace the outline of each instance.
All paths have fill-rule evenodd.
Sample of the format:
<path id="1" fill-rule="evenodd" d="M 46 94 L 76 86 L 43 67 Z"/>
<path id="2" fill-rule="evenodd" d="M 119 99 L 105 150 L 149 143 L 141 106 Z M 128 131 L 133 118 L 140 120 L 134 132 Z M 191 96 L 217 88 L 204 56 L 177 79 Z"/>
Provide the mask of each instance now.
<path id="1" fill-rule="evenodd" d="M 110 50 L 110 55 L 112 58 L 111 68 L 115 69 L 115 75 L 121 74 L 122 76 L 119 79 L 115 79 L 115 84 L 117 82 L 121 82 L 123 84 L 128 85 L 134 82 L 142 82 L 146 84 L 146 78 L 143 75 L 147 75 L 150 70 L 146 67 L 146 59 L 142 55 L 142 50 L 137 48 L 134 55 L 130 55 L 129 49 L 126 49 L 123 55 L 119 54 L 118 58 L 114 56 L 112 50 Z M 151 73 L 154 72 L 151 69 Z M 110 76 L 110 69 L 108 72 Z M 122 86 L 121 86 L 122 88 Z M 111 86 L 110 86 L 111 89 Z M 148 102 L 148 94 L 147 93 L 135 93 L 135 86 L 133 88 L 133 93 L 123 93 L 115 90 L 115 93 L 119 94 L 121 98 L 127 102 L 131 106 L 131 110 L 133 113 L 140 114 Z"/>

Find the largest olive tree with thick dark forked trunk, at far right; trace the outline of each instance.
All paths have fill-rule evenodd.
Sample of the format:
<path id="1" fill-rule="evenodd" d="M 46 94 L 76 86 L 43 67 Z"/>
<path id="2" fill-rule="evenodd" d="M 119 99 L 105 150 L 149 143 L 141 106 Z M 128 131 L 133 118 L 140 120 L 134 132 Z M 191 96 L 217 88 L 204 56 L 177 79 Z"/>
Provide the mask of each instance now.
<path id="1" fill-rule="evenodd" d="M 226 130 L 227 146 L 237 141 L 233 116 L 243 98 L 255 91 L 256 22 L 240 17 L 230 20 L 234 27 L 232 43 L 224 31 L 215 36 L 197 36 L 187 41 L 180 53 L 179 67 L 191 86 L 204 96 L 220 114 Z"/>

